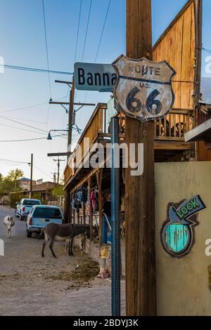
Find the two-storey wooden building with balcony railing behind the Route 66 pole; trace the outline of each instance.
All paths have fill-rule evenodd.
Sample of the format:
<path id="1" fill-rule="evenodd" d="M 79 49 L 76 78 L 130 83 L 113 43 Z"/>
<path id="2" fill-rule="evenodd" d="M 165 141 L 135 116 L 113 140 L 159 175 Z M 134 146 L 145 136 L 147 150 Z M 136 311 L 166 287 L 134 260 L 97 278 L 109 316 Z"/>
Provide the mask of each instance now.
<path id="1" fill-rule="evenodd" d="M 175 95 L 172 111 L 164 119 L 155 121 L 155 162 L 196 160 L 196 144 L 185 143 L 184 134 L 196 126 L 198 117 L 200 117 L 200 48 L 201 8 L 198 7 L 197 0 L 189 0 L 153 46 L 153 60 L 158 62 L 166 60 L 177 72 L 172 83 Z M 127 133 L 124 127 L 124 115 L 119 114 L 119 117 L 120 140 L 124 142 L 125 133 Z M 75 169 L 67 166 L 64 173 L 69 205 L 79 187 L 86 185 L 89 197 L 91 191 L 97 188 L 98 213 L 93 216 L 91 202 L 88 198 L 89 207 L 86 207 L 85 204 L 82 205 L 79 213 L 75 209 L 69 208 L 66 220 L 73 223 L 90 223 L 92 227 L 93 218 L 97 218 L 100 227 L 100 244 L 102 244 L 102 197 L 110 189 L 110 169 L 104 166 L 106 157 L 103 164 L 99 164 L 97 169 L 84 168 L 81 165 L 89 154 L 86 143 L 84 143 L 86 138 L 90 139 L 91 145 L 94 143 L 106 145 L 110 142 L 107 120 L 107 105 L 99 103 L 79 139 L 79 146 L 82 149 L 79 162 Z M 76 149 L 72 158 L 77 152 Z M 89 154 L 90 156 L 91 154 Z M 124 211 L 123 170 L 120 178 L 121 209 Z"/>

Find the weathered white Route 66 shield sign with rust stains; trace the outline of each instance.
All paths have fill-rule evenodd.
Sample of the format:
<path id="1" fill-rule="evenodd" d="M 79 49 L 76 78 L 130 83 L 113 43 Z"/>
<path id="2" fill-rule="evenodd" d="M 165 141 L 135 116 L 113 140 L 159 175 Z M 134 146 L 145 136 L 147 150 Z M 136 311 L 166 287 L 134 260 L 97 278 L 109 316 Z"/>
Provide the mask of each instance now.
<path id="1" fill-rule="evenodd" d="M 167 62 L 120 55 L 113 67 L 117 72 L 114 95 L 120 112 L 145 122 L 164 117 L 172 109 L 172 77 L 176 72 Z"/>

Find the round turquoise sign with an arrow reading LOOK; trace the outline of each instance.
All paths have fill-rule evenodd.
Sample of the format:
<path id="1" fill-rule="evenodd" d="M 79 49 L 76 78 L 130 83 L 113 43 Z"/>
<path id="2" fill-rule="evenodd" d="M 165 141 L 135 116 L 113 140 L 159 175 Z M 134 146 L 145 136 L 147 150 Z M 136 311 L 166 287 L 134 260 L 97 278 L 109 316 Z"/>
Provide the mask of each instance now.
<path id="1" fill-rule="evenodd" d="M 162 225 L 160 238 L 163 248 L 170 256 L 181 258 L 191 251 L 195 243 L 194 227 L 199 224 L 196 213 L 205 208 L 199 195 L 179 204 L 168 204 L 168 218 Z"/>

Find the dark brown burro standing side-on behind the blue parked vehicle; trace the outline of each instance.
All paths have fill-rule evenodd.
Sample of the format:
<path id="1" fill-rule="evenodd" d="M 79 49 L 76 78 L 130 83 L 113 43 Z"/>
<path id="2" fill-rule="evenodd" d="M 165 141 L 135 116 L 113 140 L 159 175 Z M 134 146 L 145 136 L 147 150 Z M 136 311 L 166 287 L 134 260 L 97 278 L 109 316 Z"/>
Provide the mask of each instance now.
<path id="1" fill-rule="evenodd" d="M 94 227 L 94 232 L 96 231 L 96 228 Z M 73 256 L 72 253 L 72 246 L 73 246 L 73 239 L 75 236 L 77 235 L 84 235 L 87 238 L 90 237 L 90 227 L 89 225 L 77 225 L 77 224 L 73 224 L 73 223 L 67 223 L 64 225 L 58 225 L 56 223 L 49 223 L 48 225 L 46 225 L 44 227 L 44 235 L 45 235 L 45 239 L 44 239 L 44 243 L 42 246 L 42 251 L 41 251 L 41 256 L 44 257 L 44 249 L 46 246 L 46 243 L 48 241 L 49 242 L 49 249 L 51 250 L 51 253 L 53 254 L 53 257 L 56 258 L 56 255 L 53 251 L 53 242 L 55 239 L 58 240 L 69 240 L 69 242 L 71 241 L 70 244 L 68 244 L 69 249 L 68 249 L 68 253 L 69 256 Z"/>

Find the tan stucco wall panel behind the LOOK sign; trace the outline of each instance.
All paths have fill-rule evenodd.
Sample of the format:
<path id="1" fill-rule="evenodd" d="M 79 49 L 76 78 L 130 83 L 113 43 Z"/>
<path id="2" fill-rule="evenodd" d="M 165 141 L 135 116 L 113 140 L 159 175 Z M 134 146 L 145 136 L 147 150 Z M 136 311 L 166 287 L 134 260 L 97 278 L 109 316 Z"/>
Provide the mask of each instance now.
<path id="1" fill-rule="evenodd" d="M 196 243 L 184 258 L 172 258 L 160 241 L 167 204 L 196 194 L 207 206 L 197 216 Z M 205 241 L 211 239 L 211 162 L 155 164 L 155 217 L 158 315 L 211 315 L 211 256 L 205 256 Z"/>

